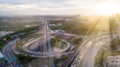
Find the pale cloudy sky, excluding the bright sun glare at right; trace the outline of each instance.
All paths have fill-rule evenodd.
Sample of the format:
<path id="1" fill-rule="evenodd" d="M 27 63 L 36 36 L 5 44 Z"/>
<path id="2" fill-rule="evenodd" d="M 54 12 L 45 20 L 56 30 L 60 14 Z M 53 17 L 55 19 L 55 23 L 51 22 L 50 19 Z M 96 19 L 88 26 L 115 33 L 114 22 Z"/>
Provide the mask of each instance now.
<path id="1" fill-rule="evenodd" d="M 92 15 L 105 1 L 120 4 L 120 0 L 0 0 L 0 15 Z"/>

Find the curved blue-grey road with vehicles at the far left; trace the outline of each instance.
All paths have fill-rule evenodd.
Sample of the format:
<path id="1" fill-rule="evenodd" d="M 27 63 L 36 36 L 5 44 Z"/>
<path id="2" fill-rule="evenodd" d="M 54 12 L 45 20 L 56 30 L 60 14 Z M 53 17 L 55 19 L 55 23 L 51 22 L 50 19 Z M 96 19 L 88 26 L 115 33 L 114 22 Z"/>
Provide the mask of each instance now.
<path id="1" fill-rule="evenodd" d="M 16 40 L 17 39 L 6 44 L 3 48 L 2 53 L 5 59 L 11 64 L 12 67 L 22 67 L 22 65 L 17 61 L 16 57 L 12 54 L 11 51 L 12 46 L 16 43 Z"/>

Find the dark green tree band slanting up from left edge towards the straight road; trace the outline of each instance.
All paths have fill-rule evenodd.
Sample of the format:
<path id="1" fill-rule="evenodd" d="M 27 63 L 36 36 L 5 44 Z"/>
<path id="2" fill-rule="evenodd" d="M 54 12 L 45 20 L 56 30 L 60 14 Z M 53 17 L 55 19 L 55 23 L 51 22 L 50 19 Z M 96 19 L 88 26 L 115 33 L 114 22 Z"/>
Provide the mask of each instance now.
<path id="1" fill-rule="evenodd" d="M 35 27 L 31 27 L 31 28 L 26 28 L 24 30 L 20 30 L 20 31 L 17 31 L 15 33 L 8 34 L 6 36 L 1 37 L 0 38 L 0 50 L 2 50 L 2 48 L 4 47 L 4 45 L 7 44 L 7 42 L 9 42 L 11 40 L 14 40 L 16 38 L 24 38 L 28 34 L 33 33 L 34 30 L 39 30 L 39 26 L 35 26 Z"/>

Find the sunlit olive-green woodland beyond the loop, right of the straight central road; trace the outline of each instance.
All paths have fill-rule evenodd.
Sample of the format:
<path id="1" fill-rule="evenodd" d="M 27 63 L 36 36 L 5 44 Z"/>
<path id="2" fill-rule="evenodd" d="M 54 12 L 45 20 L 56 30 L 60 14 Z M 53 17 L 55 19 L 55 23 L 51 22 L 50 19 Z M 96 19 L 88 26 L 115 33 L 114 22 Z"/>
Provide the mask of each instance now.
<path id="1" fill-rule="evenodd" d="M 56 24 L 56 26 L 51 26 L 52 30 L 56 29 L 61 29 L 65 30 L 68 33 L 71 34 L 79 34 L 79 35 L 84 35 L 85 32 L 87 31 L 85 24 L 80 23 L 78 20 L 73 20 L 73 21 L 50 21 L 51 24 Z M 60 26 L 57 26 L 61 24 Z"/>

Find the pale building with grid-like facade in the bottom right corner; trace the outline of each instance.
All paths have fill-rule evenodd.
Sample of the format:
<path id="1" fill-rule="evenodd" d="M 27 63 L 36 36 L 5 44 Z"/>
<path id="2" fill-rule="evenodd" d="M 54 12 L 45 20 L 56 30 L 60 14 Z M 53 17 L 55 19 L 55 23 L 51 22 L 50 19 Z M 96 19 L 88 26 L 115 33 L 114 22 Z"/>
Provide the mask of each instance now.
<path id="1" fill-rule="evenodd" d="M 106 67 L 120 67 L 120 55 L 108 56 Z"/>

